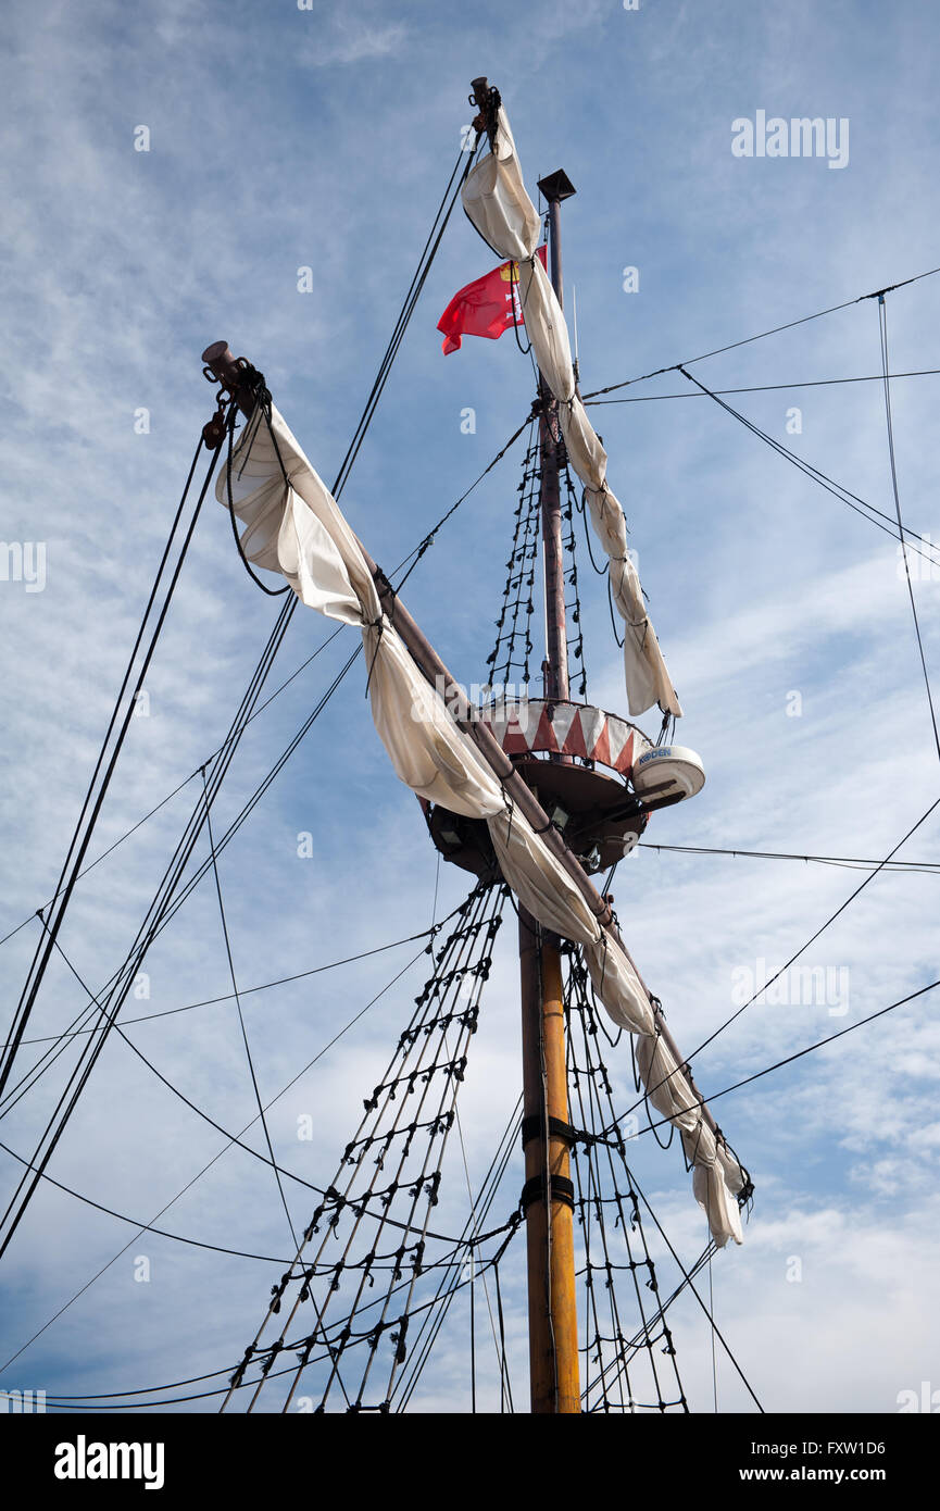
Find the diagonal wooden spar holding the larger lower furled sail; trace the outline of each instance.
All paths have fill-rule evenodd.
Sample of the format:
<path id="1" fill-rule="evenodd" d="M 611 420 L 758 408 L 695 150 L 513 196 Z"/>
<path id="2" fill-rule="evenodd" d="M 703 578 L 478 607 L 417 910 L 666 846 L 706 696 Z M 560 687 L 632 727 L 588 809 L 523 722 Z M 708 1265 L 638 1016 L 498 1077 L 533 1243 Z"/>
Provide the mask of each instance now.
<path id="1" fill-rule="evenodd" d="M 203 352 L 203 363 L 215 373 L 218 381 L 224 384 L 225 388 L 228 388 L 228 391 L 236 399 L 239 408 L 242 409 L 242 414 L 249 417 L 254 413 L 254 405 L 255 405 L 254 393 L 251 391 L 251 385 L 246 382 L 249 370 L 243 370 L 237 366 L 236 358 L 233 357 L 228 348 L 228 343 L 215 341 L 212 346 L 207 346 L 206 351 Z M 363 553 L 363 559 L 366 561 L 369 571 L 375 579 L 375 586 L 381 598 L 382 607 L 388 615 L 388 620 L 394 624 L 397 633 L 400 635 L 413 662 L 416 663 L 425 680 L 440 692 L 447 707 L 453 710 L 456 722 L 464 730 L 464 733 L 467 733 L 470 739 L 475 742 L 481 756 L 484 757 L 493 774 L 502 783 L 506 795 L 512 799 L 512 802 L 517 804 L 520 813 L 524 814 L 532 828 L 540 831 L 544 843 L 565 867 L 568 876 L 580 891 L 582 898 L 588 904 L 588 908 L 591 910 L 597 922 L 601 925 L 603 929 L 606 929 L 611 938 L 617 941 L 620 949 L 630 961 L 633 970 L 636 972 L 636 979 L 639 981 L 639 985 L 642 987 L 647 999 L 650 1000 L 650 1005 L 653 1006 L 657 1031 L 662 1035 L 663 1043 L 671 1050 L 673 1058 L 676 1059 L 679 1068 L 685 1071 L 686 1082 L 689 1085 L 689 1089 L 692 1091 L 692 1095 L 700 1105 L 704 1121 L 710 1127 L 712 1133 L 721 1138 L 721 1129 L 718 1127 L 710 1108 L 706 1105 L 701 1091 L 695 1085 L 689 1067 L 685 1064 L 682 1052 L 676 1040 L 673 1038 L 673 1032 L 662 1015 L 662 1008 L 653 999 L 650 988 L 647 987 L 645 981 L 642 979 L 636 967 L 636 961 L 630 955 L 630 950 L 627 949 L 620 935 L 620 929 L 614 922 L 614 914 L 611 911 L 609 904 L 606 902 L 605 898 L 600 896 L 600 893 L 591 882 L 591 878 L 582 867 L 580 861 L 571 854 L 559 831 L 550 823 L 549 814 L 538 802 L 538 798 L 535 796 L 532 789 L 527 787 L 526 783 L 521 780 L 521 777 L 512 766 L 512 762 L 503 751 L 502 745 L 499 743 L 493 731 L 485 724 L 481 722 L 479 713 L 475 707 L 472 707 L 467 694 L 456 681 L 456 678 L 450 674 L 450 671 L 447 669 L 447 666 L 444 665 L 435 648 L 431 645 L 431 641 L 426 638 L 420 626 L 414 621 L 414 618 L 411 616 L 402 600 L 396 595 L 388 579 L 385 577 L 382 570 L 376 567 L 375 561 L 372 559 L 363 542 L 358 539 L 358 536 L 357 536 L 357 544 Z"/>

